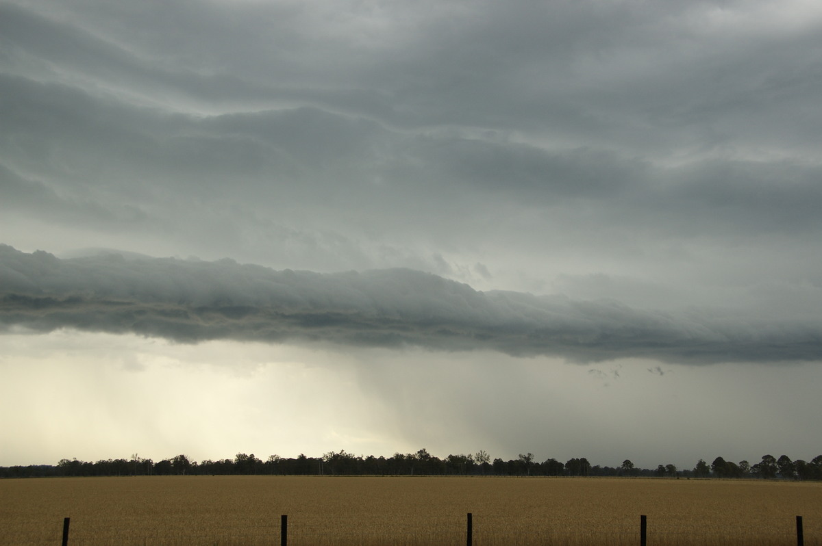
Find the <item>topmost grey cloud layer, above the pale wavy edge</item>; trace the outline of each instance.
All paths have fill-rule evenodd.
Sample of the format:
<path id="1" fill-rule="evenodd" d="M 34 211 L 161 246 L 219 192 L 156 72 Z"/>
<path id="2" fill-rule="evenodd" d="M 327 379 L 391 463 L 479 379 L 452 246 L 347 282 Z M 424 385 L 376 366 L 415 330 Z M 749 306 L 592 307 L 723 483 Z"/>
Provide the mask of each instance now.
<path id="1" fill-rule="evenodd" d="M 781 142 L 815 134 L 797 122 L 820 114 L 810 92 L 819 67 L 806 53 L 818 26 L 780 34 L 744 24 L 759 2 L 514 4 L 67 2 L 59 17 L 30 2 L 7 7 L 10 30 L 22 29 L 7 39 L 109 85 L 125 77 L 192 99 L 294 101 L 406 127 L 528 130 L 643 149 L 712 133 L 746 139 L 751 124 L 758 138 L 778 126 Z M 38 5 L 53 19 L 36 15 Z"/>

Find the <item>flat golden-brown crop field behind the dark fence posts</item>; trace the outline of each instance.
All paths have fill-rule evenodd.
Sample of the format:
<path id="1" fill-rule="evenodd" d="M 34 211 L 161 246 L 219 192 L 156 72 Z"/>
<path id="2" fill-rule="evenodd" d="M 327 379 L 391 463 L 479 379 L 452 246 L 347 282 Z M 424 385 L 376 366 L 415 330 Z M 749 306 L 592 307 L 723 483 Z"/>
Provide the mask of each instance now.
<path id="1" fill-rule="evenodd" d="M 822 484 L 755 480 L 174 476 L 0 480 L 0 544 L 822 544 Z"/>

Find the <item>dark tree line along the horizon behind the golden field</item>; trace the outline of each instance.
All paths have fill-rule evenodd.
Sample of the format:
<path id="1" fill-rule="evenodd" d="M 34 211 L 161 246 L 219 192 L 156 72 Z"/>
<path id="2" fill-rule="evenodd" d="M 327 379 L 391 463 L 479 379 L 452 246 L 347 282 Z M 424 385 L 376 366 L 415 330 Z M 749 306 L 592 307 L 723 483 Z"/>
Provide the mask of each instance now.
<path id="1" fill-rule="evenodd" d="M 192 461 L 178 455 L 162 461 L 139 457 L 106 459 L 96 462 L 62 459 L 55 465 L 0 466 L 0 478 L 51 476 L 129 476 L 129 475 L 496 475 L 496 476 L 656 476 L 668 478 L 761 478 L 822 479 L 822 455 L 810 462 L 783 455 L 778 459 L 764 455 L 760 462 L 725 461 L 716 457 L 710 465 L 700 459 L 692 469 L 672 464 L 655 469 L 639 468 L 626 459 L 621 466 L 591 466 L 588 459 L 571 458 L 537 461 L 533 453 L 520 454 L 504 461 L 485 451 L 470 455 L 449 455 L 443 459 L 425 448 L 415 453 L 395 453 L 392 457 L 353 455 L 340 450 L 322 457 L 279 457 L 266 461 L 254 454 L 238 453 L 233 459 Z"/>

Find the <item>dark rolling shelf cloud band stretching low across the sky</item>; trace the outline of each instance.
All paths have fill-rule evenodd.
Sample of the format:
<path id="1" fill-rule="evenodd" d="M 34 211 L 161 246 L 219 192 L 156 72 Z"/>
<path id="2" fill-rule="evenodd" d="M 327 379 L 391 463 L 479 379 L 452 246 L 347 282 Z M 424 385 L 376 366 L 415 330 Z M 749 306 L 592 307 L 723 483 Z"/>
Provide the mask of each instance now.
<path id="1" fill-rule="evenodd" d="M 58 259 L 0 247 L 0 324 L 176 342 L 422 346 L 589 362 L 822 360 L 820 325 L 739 312 L 638 310 L 468 285 L 409 269 L 275 271 L 232 260 Z"/>

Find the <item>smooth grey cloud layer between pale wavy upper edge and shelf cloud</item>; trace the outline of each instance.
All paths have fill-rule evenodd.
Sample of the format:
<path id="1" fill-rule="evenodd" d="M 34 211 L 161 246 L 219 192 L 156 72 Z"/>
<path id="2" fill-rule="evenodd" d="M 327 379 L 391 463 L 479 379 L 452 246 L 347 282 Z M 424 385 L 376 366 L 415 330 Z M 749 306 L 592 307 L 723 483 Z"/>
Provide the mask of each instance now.
<path id="1" fill-rule="evenodd" d="M 532 210 L 541 232 L 562 232 L 554 245 L 595 246 L 600 226 L 624 233 L 613 248 L 642 241 L 649 225 L 660 241 L 709 236 L 756 244 L 764 234 L 818 241 L 822 227 L 819 167 L 788 159 L 663 167 L 604 149 L 408 135 L 317 108 L 196 117 L 14 76 L 0 76 L 0 85 L 7 122 L 0 161 L 39 181 L 16 186 L 58 190 L 67 211 L 78 203 L 101 208 L 78 217 L 54 213 L 49 200 L 29 200 L 31 215 L 117 230 L 140 226 L 181 239 L 214 233 L 210 241 L 225 241 L 220 254 L 231 249 L 239 257 L 245 244 L 245 259 L 272 244 L 266 239 L 279 248 L 279 241 L 296 243 L 302 250 L 281 267 L 418 267 L 412 256 L 381 260 L 374 248 L 386 245 L 386 236 L 392 246 L 405 245 L 406 237 L 485 245 L 477 235 L 487 231 L 485 218 L 505 207 Z M 315 226 L 305 226 L 306 218 Z M 259 232 L 261 224 L 269 227 Z M 494 232 L 506 245 L 544 244 L 540 235 L 523 233 L 516 218 L 501 218 Z M 357 249 L 335 250 L 334 241 L 363 234 L 368 241 Z M 438 272 L 434 265 L 428 270 Z"/>

